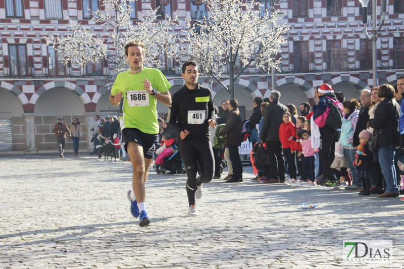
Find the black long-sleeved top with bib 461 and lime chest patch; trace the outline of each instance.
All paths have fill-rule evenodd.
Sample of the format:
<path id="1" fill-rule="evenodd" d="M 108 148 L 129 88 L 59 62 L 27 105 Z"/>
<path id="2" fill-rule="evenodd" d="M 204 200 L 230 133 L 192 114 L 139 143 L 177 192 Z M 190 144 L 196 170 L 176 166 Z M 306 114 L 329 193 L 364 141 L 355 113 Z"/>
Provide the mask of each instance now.
<path id="1" fill-rule="evenodd" d="M 187 138 L 210 140 L 208 120 L 215 119 L 212 92 L 209 88 L 196 85 L 190 90 L 185 85 L 171 97 L 167 121 L 178 134 L 188 130 Z"/>

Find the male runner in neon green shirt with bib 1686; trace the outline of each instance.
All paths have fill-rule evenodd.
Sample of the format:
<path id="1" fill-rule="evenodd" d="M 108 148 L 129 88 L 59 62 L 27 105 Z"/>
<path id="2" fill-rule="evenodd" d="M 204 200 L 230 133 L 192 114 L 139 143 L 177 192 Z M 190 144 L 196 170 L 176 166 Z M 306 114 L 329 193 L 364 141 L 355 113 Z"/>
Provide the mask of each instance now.
<path id="1" fill-rule="evenodd" d="M 119 105 L 122 98 L 123 117 L 120 120 L 122 141 L 133 167 L 132 190 L 127 192 L 130 211 L 139 226 L 147 226 L 145 183 L 156 149 L 159 124 L 156 103 L 171 104 L 170 83 L 157 69 L 143 67 L 145 45 L 140 41 L 126 43 L 125 57 L 130 70 L 119 73 L 111 89 L 110 103 Z M 140 212 L 140 213 L 139 213 Z"/>

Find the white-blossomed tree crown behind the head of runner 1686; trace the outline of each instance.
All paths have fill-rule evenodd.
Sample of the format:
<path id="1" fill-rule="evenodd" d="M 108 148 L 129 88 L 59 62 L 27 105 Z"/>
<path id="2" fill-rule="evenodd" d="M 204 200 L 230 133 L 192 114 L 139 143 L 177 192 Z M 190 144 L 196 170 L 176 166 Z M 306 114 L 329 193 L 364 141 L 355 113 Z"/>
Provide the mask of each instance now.
<path id="1" fill-rule="evenodd" d="M 173 18 L 158 18 L 157 11 L 150 7 L 143 9 L 141 20 L 132 21 L 132 8 L 129 2 L 136 0 L 98 0 L 104 10 L 87 11 L 95 26 L 102 26 L 102 31 L 91 31 L 94 25 L 81 25 L 69 18 L 69 34 L 49 34 L 45 36 L 46 44 L 52 44 L 58 52 L 60 61 L 66 65 L 79 65 L 84 68 L 90 63 L 106 60 L 114 71 L 105 79 L 107 88 L 111 88 L 116 75 L 129 69 L 125 59 L 124 44 L 140 40 L 146 45 L 144 66 L 161 68 L 164 65 L 162 54 L 174 58 L 178 51 L 177 35 L 174 27 L 178 25 L 178 14 Z M 163 61 L 162 61 L 163 60 Z"/>

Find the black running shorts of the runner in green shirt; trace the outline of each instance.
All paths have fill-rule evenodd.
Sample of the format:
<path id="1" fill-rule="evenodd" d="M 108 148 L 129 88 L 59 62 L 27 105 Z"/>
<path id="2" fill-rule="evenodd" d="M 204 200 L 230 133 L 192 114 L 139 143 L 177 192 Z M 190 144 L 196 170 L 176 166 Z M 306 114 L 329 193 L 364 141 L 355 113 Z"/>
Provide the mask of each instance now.
<path id="1" fill-rule="evenodd" d="M 145 134 L 136 128 L 125 128 L 122 130 L 122 142 L 125 143 L 125 150 L 128 152 L 127 146 L 130 141 L 136 141 L 143 147 L 143 155 L 145 158 L 153 158 L 156 151 L 158 134 Z"/>

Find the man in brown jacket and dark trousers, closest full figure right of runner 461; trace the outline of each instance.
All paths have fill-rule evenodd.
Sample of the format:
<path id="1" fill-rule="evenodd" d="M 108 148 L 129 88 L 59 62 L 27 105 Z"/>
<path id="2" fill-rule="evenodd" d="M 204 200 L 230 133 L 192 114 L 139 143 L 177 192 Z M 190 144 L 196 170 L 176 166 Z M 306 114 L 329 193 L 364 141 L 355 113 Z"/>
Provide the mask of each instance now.
<path id="1" fill-rule="evenodd" d="M 241 145 L 241 116 L 238 111 L 238 102 L 236 99 L 230 99 L 229 116 L 226 120 L 226 126 L 220 131 L 220 135 L 226 135 L 225 145 L 229 149 L 231 164 L 233 166 L 233 175 L 227 180 L 227 183 L 243 181 L 243 167 L 241 165 L 238 147 Z"/>

